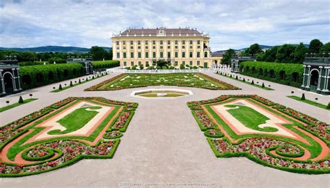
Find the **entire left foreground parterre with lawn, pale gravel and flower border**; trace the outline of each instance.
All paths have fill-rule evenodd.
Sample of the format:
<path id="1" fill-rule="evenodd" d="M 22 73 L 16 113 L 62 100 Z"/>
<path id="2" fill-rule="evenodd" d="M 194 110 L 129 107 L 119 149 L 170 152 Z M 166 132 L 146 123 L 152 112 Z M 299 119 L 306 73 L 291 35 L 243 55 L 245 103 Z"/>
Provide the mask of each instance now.
<path id="1" fill-rule="evenodd" d="M 113 157 L 137 105 L 68 97 L 1 127 L 0 177 L 52 171 L 84 158 Z"/>

